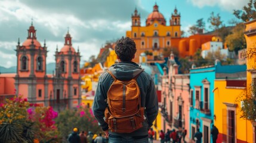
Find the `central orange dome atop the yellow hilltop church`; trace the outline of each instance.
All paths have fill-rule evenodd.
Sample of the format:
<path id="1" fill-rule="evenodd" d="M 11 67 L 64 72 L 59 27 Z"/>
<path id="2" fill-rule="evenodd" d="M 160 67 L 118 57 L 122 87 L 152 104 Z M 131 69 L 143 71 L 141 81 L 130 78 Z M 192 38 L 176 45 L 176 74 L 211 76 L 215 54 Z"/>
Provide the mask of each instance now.
<path id="1" fill-rule="evenodd" d="M 165 17 L 163 14 L 161 14 L 159 11 L 158 11 L 158 5 L 154 5 L 153 7 L 153 12 L 150 13 L 148 16 L 147 16 L 147 20 L 146 20 L 146 24 L 149 25 L 149 24 L 152 24 L 152 22 L 154 20 L 158 20 L 159 23 L 165 25 L 166 24 L 166 21 L 165 21 Z"/>

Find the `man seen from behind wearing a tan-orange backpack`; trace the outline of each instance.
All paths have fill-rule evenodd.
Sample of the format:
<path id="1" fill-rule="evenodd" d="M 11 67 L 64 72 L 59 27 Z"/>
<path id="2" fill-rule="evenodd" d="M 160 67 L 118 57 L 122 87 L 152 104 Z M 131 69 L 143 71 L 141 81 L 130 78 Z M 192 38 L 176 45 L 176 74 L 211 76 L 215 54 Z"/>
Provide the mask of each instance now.
<path id="1" fill-rule="evenodd" d="M 132 62 L 136 51 L 132 39 L 119 39 L 115 46 L 119 63 L 113 64 L 98 80 L 92 111 L 110 143 L 148 142 L 148 130 L 158 114 L 155 83 Z"/>

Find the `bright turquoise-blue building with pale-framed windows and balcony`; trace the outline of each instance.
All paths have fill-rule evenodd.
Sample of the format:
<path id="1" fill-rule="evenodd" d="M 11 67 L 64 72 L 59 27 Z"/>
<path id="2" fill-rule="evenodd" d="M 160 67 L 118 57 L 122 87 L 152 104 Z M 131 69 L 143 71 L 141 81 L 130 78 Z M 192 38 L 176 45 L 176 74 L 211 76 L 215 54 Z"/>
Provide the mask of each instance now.
<path id="1" fill-rule="evenodd" d="M 234 74 L 239 73 L 239 74 Z M 241 74 L 242 73 L 242 74 Z M 245 74 L 245 75 L 243 75 Z M 212 142 L 211 127 L 214 123 L 214 80 L 246 77 L 245 65 L 221 66 L 216 60 L 214 66 L 195 67 L 190 70 L 190 138 L 202 132 L 202 142 Z"/>

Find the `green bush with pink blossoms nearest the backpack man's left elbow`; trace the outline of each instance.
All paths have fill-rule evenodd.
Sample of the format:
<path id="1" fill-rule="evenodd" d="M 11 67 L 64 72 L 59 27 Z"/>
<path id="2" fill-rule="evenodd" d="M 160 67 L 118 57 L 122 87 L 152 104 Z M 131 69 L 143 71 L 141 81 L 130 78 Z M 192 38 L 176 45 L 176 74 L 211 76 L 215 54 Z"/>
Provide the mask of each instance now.
<path id="1" fill-rule="evenodd" d="M 78 128 L 79 131 L 101 132 L 101 128 L 98 126 L 98 122 L 95 120 L 91 109 L 84 105 L 78 107 L 76 110 L 61 111 L 55 122 L 63 142 L 72 133 L 73 128 Z"/>

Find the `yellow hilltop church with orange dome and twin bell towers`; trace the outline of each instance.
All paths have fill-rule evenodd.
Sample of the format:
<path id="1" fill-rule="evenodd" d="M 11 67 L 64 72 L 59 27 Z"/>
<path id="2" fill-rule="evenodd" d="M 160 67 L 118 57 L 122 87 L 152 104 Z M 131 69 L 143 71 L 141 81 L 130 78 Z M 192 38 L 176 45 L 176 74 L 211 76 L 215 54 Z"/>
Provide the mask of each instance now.
<path id="1" fill-rule="evenodd" d="M 131 30 L 127 31 L 126 36 L 132 38 L 136 43 L 135 63 L 138 63 L 140 54 L 144 51 L 153 55 L 148 57 L 148 60 L 160 60 L 163 58 L 161 54 L 164 48 L 178 48 L 178 42 L 181 39 L 181 25 L 177 8 L 171 15 L 169 26 L 166 26 L 165 17 L 159 12 L 156 4 L 153 7 L 153 12 L 147 17 L 146 26 L 141 26 L 140 14 L 136 9 L 131 19 Z"/>

